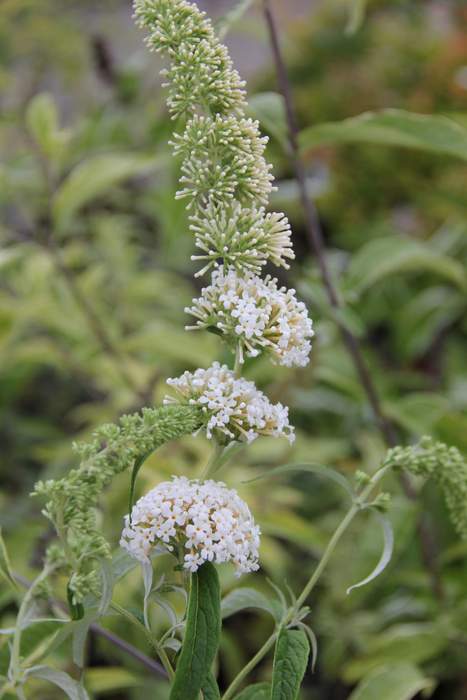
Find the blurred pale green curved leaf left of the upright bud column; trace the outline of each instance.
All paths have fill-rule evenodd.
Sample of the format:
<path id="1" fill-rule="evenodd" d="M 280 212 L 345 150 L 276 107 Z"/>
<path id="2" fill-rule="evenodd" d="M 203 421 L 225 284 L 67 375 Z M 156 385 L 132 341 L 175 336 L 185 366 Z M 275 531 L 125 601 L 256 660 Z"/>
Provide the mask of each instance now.
<path id="1" fill-rule="evenodd" d="M 108 192 L 120 182 L 154 170 L 159 160 L 127 153 L 106 153 L 77 165 L 58 189 L 53 216 L 59 228 L 66 226 L 84 205 Z"/>

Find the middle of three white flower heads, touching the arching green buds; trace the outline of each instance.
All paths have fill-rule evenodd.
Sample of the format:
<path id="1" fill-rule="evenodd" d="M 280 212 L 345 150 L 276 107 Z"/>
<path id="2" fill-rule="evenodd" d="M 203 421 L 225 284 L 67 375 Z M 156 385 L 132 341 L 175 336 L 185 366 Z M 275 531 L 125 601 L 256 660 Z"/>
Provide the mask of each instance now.
<path id="1" fill-rule="evenodd" d="M 237 378 L 226 365 L 218 362 L 209 369 L 184 372 L 177 379 L 168 379 L 179 398 L 168 397 L 165 403 L 186 402 L 201 406 L 209 418 L 206 434 L 243 442 L 253 442 L 259 435 L 295 439 L 289 423 L 288 408 L 272 404 L 253 382 Z"/>

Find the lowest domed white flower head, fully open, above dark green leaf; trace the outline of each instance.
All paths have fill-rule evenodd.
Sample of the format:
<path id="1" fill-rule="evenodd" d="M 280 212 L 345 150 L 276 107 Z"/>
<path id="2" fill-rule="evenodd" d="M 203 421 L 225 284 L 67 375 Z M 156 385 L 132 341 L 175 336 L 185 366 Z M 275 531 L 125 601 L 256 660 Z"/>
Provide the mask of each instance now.
<path id="1" fill-rule="evenodd" d="M 237 575 L 256 571 L 260 529 L 234 489 L 217 481 L 172 477 L 125 516 L 120 545 L 141 562 L 157 547 L 183 555 L 196 571 L 205 561 L 232 562 Z"/>

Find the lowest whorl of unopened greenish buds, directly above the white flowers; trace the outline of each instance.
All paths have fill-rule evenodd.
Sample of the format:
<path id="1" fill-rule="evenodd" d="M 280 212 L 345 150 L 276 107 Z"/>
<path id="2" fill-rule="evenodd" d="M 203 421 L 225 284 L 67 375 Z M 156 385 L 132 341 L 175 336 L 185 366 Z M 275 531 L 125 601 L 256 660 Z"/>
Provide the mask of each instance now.
<path id="1" fill-rule="evenodd" d="M 190 217 L 191 230 L 205 266 L 199 277 L 211 268 L 234 267 L 258 274 L 268 261 L 289 268 L 287 260 L 295 257 L 290 240 L 290 224 L 284 214 L 266 213 L 264 207 L 243 208 L 238 202 L 231 207 L 208 205 L 203 214 Z"/>

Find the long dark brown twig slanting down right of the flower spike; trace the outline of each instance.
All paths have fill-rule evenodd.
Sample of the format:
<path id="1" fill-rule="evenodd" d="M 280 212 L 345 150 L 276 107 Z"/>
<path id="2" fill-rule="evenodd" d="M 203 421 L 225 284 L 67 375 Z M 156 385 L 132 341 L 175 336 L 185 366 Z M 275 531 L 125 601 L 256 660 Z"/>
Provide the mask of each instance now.
<path id="1" fill-rule="evenodd" d="M 316 261 L 318 263 L 321 278 L 329 299 L 329 303 L 334 309 L 340 309 L 342 308 L 341 300 L 339 299 L 337 289 L 334 286 L 331 273 L 329 271 L 328 264 L 326 261 L 326 248 L 324 245 L 324 237 L 318 216 L 318 211 L 316 209 L 315 203 L 313 202 L 308 193 L 306 186 L 306 172 L 298 145 L 299 128 L 293 106 L 292 91 L 284 59 L 282 56 L 282 51 L 279 43 L 279 36 L 277 32 L 274 14 L 271 9 L 270 0 L 263 0 L 263 13 L 268 27 L 271 51 L 277 74 L 279 90 L 284 100 L 288 132 L 289 154 L 293 162 L 295 177 L 300 192 L 300 201 L 305 212 L 305 226 L 308 244 L 316 257 Z M 396 432 L 394 430 L 393 425 L 384 414 L 378 391 L 373 382 L 373 378 L 371 376 L 369 368 L 366 364 L 359 341 L 353 335 L 353 333 L 337 318 L 336 323 L 339 326 L 339 331 L 342 340 L 353 360 L 360 383 L 368 398 L 368 402 L 371 406 L 371 409 L 378 423 L 380 431 L 385 439 L 385 442 L 389 447 L 393 447 L 397 444 Z M 410 480 L 405 475 L 402 475 L 400 480 L 402 488 L 407 498 L 409 498 L 410 500 L 415 500 L 417 498 L 417 492 L 412 486 Z M 441 599 L 443 597 L 443 587 L 439 575 L 439 567 L 436 556 L 436 543 L 433 537 L 433 533 L 431 532 L 431 528 L 428 526 L 426 518 L 424 517 L 420 518 L 420 521 L 418 523 L 418 535 L 420 539 L 423 562 L 425 568 L 430 574 L 433 593 L 438 599 Z"/>

